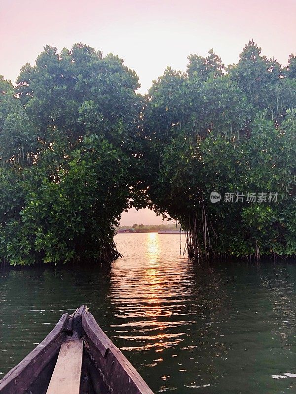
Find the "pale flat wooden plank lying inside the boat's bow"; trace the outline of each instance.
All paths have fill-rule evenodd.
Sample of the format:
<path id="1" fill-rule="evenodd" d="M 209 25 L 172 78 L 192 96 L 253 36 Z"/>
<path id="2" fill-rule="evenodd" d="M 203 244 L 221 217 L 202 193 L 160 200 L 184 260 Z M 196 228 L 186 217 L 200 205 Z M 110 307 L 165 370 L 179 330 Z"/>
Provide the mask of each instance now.
<path id="1" fill-rule="evenodd" d="M 62 343 L 46 394 L 79 394 L 83 342 Z"/>

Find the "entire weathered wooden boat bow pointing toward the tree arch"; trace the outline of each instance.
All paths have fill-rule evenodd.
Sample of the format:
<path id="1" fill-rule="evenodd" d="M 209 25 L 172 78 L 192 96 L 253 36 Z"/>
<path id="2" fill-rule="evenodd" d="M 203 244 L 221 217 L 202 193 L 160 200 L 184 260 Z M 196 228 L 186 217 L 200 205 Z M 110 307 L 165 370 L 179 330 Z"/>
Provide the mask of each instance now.
<path id="1" fill-rule="evenodd" d="M 0 394 L 70 392 L 153 394 L 84 305 L 70 316 L 64 314 L 46 338 L 0 380 Z"/>

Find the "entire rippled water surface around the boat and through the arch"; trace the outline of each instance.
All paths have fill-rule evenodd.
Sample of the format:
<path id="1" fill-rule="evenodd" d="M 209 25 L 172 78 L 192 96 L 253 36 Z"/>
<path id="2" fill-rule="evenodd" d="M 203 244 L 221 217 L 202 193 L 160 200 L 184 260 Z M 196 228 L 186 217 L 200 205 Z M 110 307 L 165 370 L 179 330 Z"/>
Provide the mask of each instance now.
<path id="1" fill-rule="evenodd" d="M 155 393 L 296 393 L 279 378 L 296 374 L 296 265 L 193 264 L 179 235 L 115 242 L 110 269 L 0 274 L 0 376 L 85 303 Z"/>

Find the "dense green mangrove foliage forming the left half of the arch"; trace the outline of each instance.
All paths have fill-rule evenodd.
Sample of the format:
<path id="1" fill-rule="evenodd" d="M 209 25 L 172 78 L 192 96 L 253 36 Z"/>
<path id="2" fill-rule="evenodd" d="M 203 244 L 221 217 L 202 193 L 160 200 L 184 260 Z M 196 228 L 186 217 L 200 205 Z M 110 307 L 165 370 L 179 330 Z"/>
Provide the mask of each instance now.
<path id="1" fill-rule="evenodd" d="M 0 256 L 11 264 L 119 256 L 135 182 L 138 77 L 116 56 L 46 46 L 0 80 Z"/>

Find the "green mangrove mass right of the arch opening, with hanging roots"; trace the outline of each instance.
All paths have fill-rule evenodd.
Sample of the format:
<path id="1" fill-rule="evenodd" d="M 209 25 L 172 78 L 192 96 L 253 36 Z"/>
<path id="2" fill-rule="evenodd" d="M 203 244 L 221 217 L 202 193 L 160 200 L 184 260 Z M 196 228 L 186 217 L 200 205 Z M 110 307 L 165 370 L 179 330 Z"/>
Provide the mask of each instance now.
<path id="1" fill-rule="evenodd" d="M 188 59 L 185 73 L 167 68 L 147 97 L 150 201 L 188 231 L 191 257 L 295 256 L 295 56 L 282 68 L 250 41 L 228 68 L 212 51 Z M 215 204 L 213 191 L 222 195 Z M 244 201 L 225 202 L 226 193 Z"/>

